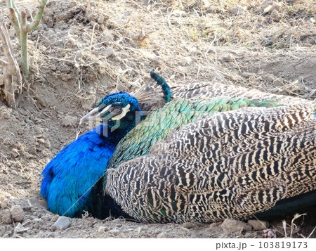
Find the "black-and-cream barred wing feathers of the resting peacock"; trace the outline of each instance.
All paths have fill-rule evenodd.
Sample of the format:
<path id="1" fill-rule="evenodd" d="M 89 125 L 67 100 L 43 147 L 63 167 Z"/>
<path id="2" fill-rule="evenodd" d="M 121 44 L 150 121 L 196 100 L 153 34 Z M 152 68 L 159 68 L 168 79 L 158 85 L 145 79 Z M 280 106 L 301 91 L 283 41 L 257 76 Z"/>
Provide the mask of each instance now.
<path id="1" fill-rule="evenodd" d="M 105 194 L 134 219 L 180 224 L 245 217 L 315 191 L 315 105 L 187 117 L 179 111 L 196 105 L 204 112 L 205 103 L 176 104 L 164 108 L 173 107 L 163 120 L 174 124 L 164 140 L 153 143 L 147 155 L 117 158 L 121 163 L 106 172 Z M 159 117 L 162 110 L 151 116 L 156 113 Z M 183 117 L 190 123 L 178 129 Z M 138 125 L 131 133 L 140 129 L 145 131 Z M 147 147 L 147 141 L 137 140 Z"/>

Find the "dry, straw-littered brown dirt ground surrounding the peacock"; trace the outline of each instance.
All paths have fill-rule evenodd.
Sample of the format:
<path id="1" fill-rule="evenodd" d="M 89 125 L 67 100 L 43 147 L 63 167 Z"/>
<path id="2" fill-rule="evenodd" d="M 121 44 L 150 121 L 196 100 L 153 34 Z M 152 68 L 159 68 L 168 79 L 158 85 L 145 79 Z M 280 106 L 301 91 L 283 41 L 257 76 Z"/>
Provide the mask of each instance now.
<path id="1" fill-rule="evenodd" d="M 15 2 L 34 15 L 37 1 Z M 1 1 L 0 22 L 9 23 L 7 13 Z M 19 108 L 8 108 L 0 94 L 0 237 L 262 238 L 262 230 L 224 231 L 222 222 L 138 224 L 88 216 L 61 230 L 39 196 L 40 174 L 90 129 L 79 118 L 100 98 L 140 88 L 151 70 L 171 85 L 222 82 L 314 101 L 315 25 L 310 0 L 48 1 L 28 37 L 31 77 Z M 13 27 L 9 33 L 19 60 Z M 20 222 L 12 210 L 17 205 Z M 292 218 L 284 219 L 290 225 Z M 312 232 L 301 219 L 293 237 Z M 270 229 L 284 237 L 282 221 L 271 221 Z"/>

